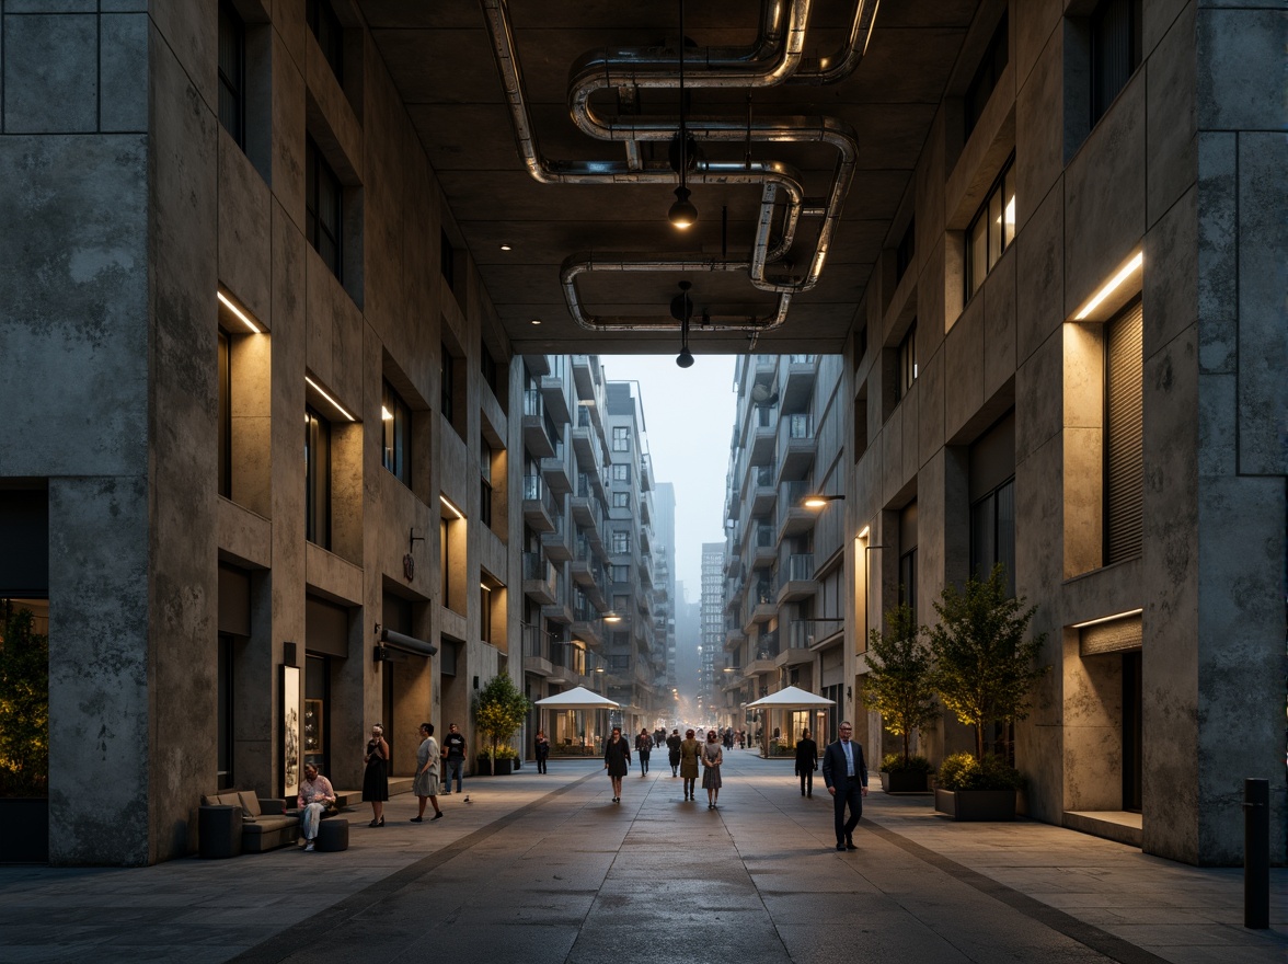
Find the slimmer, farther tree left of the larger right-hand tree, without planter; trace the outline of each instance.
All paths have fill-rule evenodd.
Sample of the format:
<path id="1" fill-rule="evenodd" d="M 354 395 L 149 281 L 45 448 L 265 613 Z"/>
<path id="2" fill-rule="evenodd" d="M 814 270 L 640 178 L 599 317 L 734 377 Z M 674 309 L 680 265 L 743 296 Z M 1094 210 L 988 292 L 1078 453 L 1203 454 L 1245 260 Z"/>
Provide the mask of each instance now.
<path id="1" fill-rule="evenodd" d="M 903 737 L 903 766 L 912 757 L 909 737 L 939 718 L 931 683 L 933 660 L 926 628 L 918 626 L 907 603 L 886 613 L 886 631 L 873 629 L 868 641 L 868 674 L 863 704 L 881 714 L 886 729 Z"/>

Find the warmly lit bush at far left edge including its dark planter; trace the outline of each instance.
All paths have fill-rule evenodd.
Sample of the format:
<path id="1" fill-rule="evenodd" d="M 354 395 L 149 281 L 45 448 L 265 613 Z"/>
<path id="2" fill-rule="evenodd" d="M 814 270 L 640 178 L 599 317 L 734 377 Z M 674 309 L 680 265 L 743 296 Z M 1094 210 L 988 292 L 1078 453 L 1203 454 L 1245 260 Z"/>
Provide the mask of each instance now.
<path id="1" fill-rule="evenodd" d="M 0 601 L 0 862 L 49 861 L 49 637 Z"/>

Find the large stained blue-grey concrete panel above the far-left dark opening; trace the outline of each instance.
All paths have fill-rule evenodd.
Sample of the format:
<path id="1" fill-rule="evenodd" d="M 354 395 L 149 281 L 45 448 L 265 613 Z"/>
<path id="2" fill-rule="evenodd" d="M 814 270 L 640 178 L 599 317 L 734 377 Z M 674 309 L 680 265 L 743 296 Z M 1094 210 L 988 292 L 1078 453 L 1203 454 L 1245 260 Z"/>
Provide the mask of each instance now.
<path id="1" fill-rule="evenodd" d="M 5 476 L 144 465 L 146 177 L 140 137 L 0 139 L 0 183 L 26 184 L 0 191 L 0 356 L 23 360 L 4 376 Z"/>

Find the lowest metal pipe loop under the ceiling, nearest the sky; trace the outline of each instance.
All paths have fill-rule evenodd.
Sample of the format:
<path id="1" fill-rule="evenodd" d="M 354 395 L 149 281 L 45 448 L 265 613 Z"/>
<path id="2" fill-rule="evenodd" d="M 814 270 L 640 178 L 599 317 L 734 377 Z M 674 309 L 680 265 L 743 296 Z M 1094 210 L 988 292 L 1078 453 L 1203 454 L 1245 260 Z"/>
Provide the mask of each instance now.
<path id="1" fill-rule="evenodd" d="M 639 316 L 595 316 L 587 314 L 581 305 L 577 291 L 577 277 L 589 272 L 717 272 L 746 271 L 748 262 L 719 260 L 715 258 L 676 258 L 672 254 L 574 254 L 564 259 L 559 269 L 559 282 L 563 285 L 568 312 L 581 327 L 587 331 L 675 331 L 680 323 L 674 318 L 644 318 Z M 703 331 L 773 331 L 787 321 L 787 308 L 791 294 L 778 295 L 778 304 L 772 314 L 765 316 L 711 316 L 710 323 L 703 318 Z"/>

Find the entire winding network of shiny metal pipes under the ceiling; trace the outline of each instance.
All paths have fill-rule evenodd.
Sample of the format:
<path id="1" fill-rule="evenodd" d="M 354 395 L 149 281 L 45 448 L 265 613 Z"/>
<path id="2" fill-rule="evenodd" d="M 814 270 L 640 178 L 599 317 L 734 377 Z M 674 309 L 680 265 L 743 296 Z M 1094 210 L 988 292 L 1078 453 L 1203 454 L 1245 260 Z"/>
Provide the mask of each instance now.
<path id="1" fill-rule="evenodd" d="M 668 165 L 641 162 L 639 143 L 668 140 L 679 128 L 676 119 L 641 120 L 636 116 L 601 119 L 591 108 L 598 90 L 618 89 L 635 99 L 638 88 L 679 88 L 679 53 L 657 49 L 592 52 L 580 58 L 569 81 L 569 110 L 573 121 L 587 135 L 626 147 L 623 161 L 555 161 L 542 156 L 528 110 L 523 73 L 519 66 L 506 0 L 480 0 L 492 37 L 497 70 L 510 107 L 519 155 L 528 173 L 541 183 L 560 184 L 641 184 L 675 183 Z M 784 82 L 824 84 L 848 76 L 858 64 L 871 31 L 876 4 L 857 0 L 846 45 L 831 58 L 806 62 L 802 57 L 811 0 L 790 0 L 786 14 L 781 3 L 761 5 L 760 35 L 747 48 L 697 48 L 685 50 L 685 85 L 696 88 L 756 88 Z M 681 37 L 680 43 L 684 43 Z M 858 143 L 853 129 L 835 117 L 773 117 L 761 121 L 726 119 L 685 119 L 685 130 L 698 140 L 770 143 L 824 143 L 835 147 L 838 160 L 828 196 L 806 205 L 800 175 L 790 166 L 773 161 L 698 162 L 689 175 L 693 183 L 759 183 L 761 213 L 748 259 L 707 259 L 675 255 L 657 256 L 580 256 L 564 262 L 560 281 L 568 309 L 582 327 L 595 331 L 663 331 L 677 325 L 671 318 L 598 318 L 583 311 L 576 277 L 587 271 L 746 271 L 751 284 L 779 295 L 777 311 L 766 317 L 728 318 L 708 330 L 760 333 L 778 327 L 786 320 L 791 295 L 818 284 L 841 217 L 845 197 L 854 178 Z M 778 191 L 786 197 L 777 241 L 773 240 Z M 769 265 L 779 262 L 795 242 L 801 217 L 820 218 L 818 240 L 809 269 L 801 277 L 774 277 Z"/>

